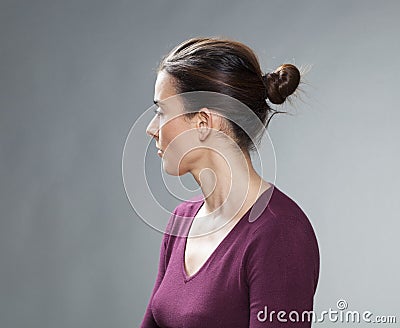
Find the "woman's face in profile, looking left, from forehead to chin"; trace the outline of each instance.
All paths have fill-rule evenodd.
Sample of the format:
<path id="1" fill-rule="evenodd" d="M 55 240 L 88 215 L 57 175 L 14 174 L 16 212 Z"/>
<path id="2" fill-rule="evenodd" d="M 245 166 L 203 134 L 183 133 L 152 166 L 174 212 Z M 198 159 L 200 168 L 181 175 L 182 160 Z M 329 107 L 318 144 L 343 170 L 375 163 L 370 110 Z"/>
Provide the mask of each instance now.
<path id="1" fill-rule="evenodd" d="M 164 71 L 157 75 L 154 100 L 158 105 L 157 113 L 146 133 L 156 141 L 164 170 L 171 175 L 183 175 L 196 163 L 201 150 L 193 149 L 196 144 L 196 125 L 182 115 L 183 108 L 176 96 L 172 77 Z"/>

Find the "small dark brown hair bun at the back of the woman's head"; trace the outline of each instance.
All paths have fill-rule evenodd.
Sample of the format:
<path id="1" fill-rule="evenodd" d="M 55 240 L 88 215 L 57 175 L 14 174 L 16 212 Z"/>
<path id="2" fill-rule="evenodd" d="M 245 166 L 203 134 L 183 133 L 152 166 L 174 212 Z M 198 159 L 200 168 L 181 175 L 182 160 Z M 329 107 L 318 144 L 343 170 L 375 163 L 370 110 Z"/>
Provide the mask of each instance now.
<path id="1" fill-rule="evenodd" d="M 283 64 L 275 71 L 265 74 L 267 98 L 273 104 L 282 104 L 300 83 L 300 71 L 292 64 Z"/>

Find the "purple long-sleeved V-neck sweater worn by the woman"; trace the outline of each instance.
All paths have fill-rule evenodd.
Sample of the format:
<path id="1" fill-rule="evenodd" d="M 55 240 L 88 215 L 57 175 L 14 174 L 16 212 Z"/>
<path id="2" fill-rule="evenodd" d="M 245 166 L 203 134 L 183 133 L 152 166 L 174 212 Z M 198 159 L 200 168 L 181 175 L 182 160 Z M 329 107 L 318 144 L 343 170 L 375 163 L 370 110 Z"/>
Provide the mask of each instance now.
<path id="1" fill-rule="evenodd" d="M 317 239 L 301 208 L 270 184 L 190 277 L 184 267 L 186 237 L 176 235 L 187 236 L 204 198 L 196 196 L 175 208 L 140 327 L 311 327 L 303 312 L 313 310 Z M 249 220 L 260 204 L 268 206 Z"/>

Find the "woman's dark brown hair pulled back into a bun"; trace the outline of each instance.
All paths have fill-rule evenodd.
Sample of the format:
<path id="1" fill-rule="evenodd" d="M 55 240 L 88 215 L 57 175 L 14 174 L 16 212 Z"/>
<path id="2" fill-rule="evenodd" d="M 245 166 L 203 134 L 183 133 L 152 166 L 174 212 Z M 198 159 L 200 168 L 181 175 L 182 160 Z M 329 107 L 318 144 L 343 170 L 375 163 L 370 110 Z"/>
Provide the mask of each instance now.
<path id="1" fill-rule="evenodd" d="M 211 91 L 239 100 L 249 107 L 265 127 L 276 113 L 266 99 L 282 104 L 300 83 L 300 72 L 292 64 L 283 64 L 264 74 L 254 52 L 243 43 L 220 37 L 191 38 L 177 45 L 160 62 L 161 70 L 173 76 L 177 93 Z M 267 121 L 269 114 L 272 113 Z M 189 117 L 196 113 L 188 113 Z M 243 115 L 242 115 L 243 116 Z M 241 149 L 254 150 L 247 133 L 236 123 L 230 122 L 233 137 Z M 242 125 L 243 123 L 243 125 Z M 248 117 L 240 124 L 247 130 L 254 129 Z M 263 131 L 258 131 L 261 133 Z"/>

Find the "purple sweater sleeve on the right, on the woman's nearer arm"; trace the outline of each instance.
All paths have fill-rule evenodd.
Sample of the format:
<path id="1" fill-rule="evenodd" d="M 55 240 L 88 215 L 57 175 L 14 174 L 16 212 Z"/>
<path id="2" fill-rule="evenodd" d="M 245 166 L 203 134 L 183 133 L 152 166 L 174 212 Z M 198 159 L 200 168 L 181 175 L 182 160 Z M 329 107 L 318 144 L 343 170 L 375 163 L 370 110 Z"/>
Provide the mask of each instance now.
<path id="1" fill-rule="evenodd" d="M 319 270 L 314 233 L 295 218 L 279 221 L 258 229 L 249 246 L 249 327 L 309 328 Z"/>

